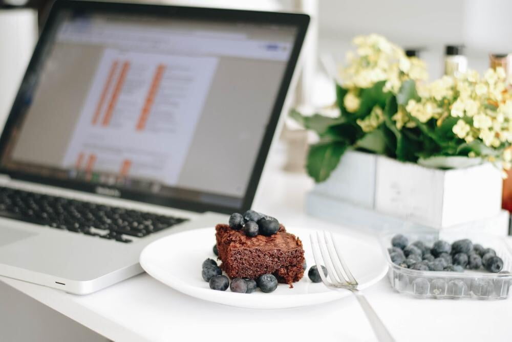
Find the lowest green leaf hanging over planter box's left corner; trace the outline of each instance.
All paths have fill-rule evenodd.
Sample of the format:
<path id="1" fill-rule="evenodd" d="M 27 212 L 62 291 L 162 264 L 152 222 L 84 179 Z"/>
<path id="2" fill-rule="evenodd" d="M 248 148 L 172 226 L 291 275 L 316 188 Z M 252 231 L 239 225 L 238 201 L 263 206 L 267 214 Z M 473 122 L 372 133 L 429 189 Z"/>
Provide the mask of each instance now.
<path id="1" fill-rule="evenodd" d="M 326 180 L 338 165 L 346 149 L 347 143 L 344 141 L 328 141 L 311 145 L 306 164 L 308 174 L 316 183 Z"/>

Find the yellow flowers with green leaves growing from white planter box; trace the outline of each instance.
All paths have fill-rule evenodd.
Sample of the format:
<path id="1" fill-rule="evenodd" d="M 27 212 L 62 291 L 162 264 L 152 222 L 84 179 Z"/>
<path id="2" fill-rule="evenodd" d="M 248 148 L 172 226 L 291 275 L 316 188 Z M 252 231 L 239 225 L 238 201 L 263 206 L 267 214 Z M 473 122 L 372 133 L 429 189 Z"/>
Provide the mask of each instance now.
<path id="1" fill-rule="evenodd" d="M 437 159 L 441 168 L 450 167 L 442 163 L 450 157 L 510 168 L 512 92 L 503 69 L 428 83 L 425 63 L 386 38 L 371 34 L 353 42 L 357 49 L 347 54 L 336 84 L 339 115 L 291 112 L 318 135 L 306 164 L 315 181 L 326 180 L 349 147 L 403 162 Z"/>

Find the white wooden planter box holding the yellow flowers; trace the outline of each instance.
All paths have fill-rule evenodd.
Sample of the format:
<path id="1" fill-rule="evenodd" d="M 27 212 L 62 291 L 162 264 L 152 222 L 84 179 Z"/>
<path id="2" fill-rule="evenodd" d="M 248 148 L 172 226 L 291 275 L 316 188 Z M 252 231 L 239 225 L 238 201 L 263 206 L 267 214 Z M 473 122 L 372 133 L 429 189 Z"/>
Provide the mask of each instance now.
<path id="1" fill-rule="evenodd" d="M 329 179 L 312 190 L 308 211 L 315 214 L 316 204 L 311 198 L 323 197 L 367 212 L 442 229 L 504 217 L 501 191 L 500 172 L 491 164 L 438 170 L 348 151 Z"/>

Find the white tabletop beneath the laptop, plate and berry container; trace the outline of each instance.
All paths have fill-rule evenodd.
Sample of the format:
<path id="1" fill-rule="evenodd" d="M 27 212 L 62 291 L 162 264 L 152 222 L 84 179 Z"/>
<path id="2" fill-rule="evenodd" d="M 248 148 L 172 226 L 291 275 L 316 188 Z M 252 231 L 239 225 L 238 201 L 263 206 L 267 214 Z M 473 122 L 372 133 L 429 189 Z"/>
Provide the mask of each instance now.
<path id="1" fill-rule="evenodd" d="M 280 171 L 281 160 L 280 150 L 274 150 L 255 210 L 287 226 L 355 234 L 379 248 L 367 233 L 305 215 L 304 197 L 312 181 L 304 174 Z M 375 340 L 352 296 L 303 308 L 253 310 L 188 297 L 145 273 L 84 296 L 4 277 L 0 281 L 115 341 Z M 416 299 L 395 292 L 387 278 L 364 292 L 398 341 L 512 339 L 512 300 Z"/>

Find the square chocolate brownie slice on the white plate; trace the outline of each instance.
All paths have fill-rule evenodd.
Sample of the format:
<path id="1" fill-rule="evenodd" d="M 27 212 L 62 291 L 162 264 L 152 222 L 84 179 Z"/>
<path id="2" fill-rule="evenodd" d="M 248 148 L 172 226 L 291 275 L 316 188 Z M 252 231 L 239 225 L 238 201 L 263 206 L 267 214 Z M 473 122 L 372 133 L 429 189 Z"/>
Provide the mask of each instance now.
<path id="1" fill-rule="evenodd" d="M 271 236 L 247 237 L 227 224 L 217 224 L 216 238 L 221 268 L 233 278 L 256 279 L 273 274 L 280 283 L 289 284 L 304 276 L 304 249 L 295 235 L 283 225 Z"/>

